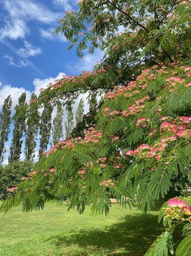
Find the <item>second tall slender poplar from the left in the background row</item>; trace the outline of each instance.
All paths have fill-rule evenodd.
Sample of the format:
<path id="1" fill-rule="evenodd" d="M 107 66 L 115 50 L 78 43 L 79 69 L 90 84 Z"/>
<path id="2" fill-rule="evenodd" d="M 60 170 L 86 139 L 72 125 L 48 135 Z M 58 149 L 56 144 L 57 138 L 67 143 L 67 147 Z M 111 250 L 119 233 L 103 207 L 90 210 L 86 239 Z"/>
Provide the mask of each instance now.
<path id="1" fill-rule="evenodd" d="M 21 147 L 23 142 L 22 136 L 26 129 L 26 109 L 26 93 L 22 93 L 19 97 L 19 104 L 15 107 L 15 111 L 17 114 L 13 116 L 14 129 L 12 143 L 10 146 L 9 163 L 20 159 Z"/>

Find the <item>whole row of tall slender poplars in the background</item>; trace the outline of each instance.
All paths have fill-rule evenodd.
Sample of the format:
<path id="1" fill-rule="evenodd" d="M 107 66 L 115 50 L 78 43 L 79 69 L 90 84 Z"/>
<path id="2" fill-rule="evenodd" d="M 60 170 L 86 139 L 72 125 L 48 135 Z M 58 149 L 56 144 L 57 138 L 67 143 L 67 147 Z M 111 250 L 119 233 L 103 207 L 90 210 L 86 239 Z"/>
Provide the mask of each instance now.
<path id="1" fill-rule="evenodd" d="M 75 124 L 79 124 L 84 116 L 84 100 L 79 101 L 78 108 L 75 112 L 75 118 L 73 113 L 73 106 L 70 105 L 66 109 L 66 121 L 65 134 L 63 129 L 63 116 L 64 109 L 63 104 L 57 104 L 56 116 L 51 122 L 51 116 L 53 112 L 53 107 L 50 103 L 44 103 L 43 111 L 40 114 L 40 120 L 35 118 L 30 118 L 29 109 L 32 104 L 37 101 L 37 96 L 35 93 L 31 94 L 31 99 L 29 104 L 26 102 L 26 93 L 22 93 L 18 99 L 18 104 L 15 107 L 17 112 L 12 117 L 12 99 L 9 95 L 4 99 L 3 106 L 0 112 L 0 164 L 3 163 L 6 149 L 6 142 L 9 140 L 9 135 L 11 132 L 10 126 L 13 123 L 12 140 L 10 145 L 10 153 L 8 157 L 9 164 L 14 161 L 20 160 L 20 155 L 22 153 L 22 145 L 24 144 L 24 154 L 26 161 L 34 161 L 35 150 L 37 148 L 37 138 L 39 135 L 39 157 L 47 150 L 48 144 L 51 146 L 57 144 L 61 138 L 69 139 L 71 132 L 75 127 Z M 97 105 L 97 99 L 91 97 L 89 100 L 90 110 L 94 109 Z M 27 113 L 27 114 L 26 114 Z"/>

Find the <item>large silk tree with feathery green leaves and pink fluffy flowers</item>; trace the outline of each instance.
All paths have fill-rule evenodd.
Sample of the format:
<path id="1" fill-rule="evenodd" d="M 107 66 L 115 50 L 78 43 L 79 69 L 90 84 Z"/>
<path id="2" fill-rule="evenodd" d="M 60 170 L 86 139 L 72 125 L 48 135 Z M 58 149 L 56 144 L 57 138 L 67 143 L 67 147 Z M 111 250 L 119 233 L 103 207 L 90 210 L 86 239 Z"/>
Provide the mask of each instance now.
<path id="1" fill-rule="evenodd" d="M 62 78 L 41 92 L 40 156 L 50 136 L 50 100 L 66 101 L 66 141 L 43 154 L 35 173 L 4 201 L 1 211 L 20 202 L 24 211 L 37 210 L 52 198 L 68 198 L 69 209 L 76 207 L 80 214 L 92 204 L 92 213 L 107 215 L 113 196 L 124 207 L 136 199 L 146 213 L 160 198 L 191 186 L 191 3 L 82 0 L 79 4 L 79 12 L 66 12 L 55 34 L 64 34 L 71 47 L 76 45 L 80 58 L 87 47 L 90 54 L 99 47 L 105 50 L 104 60 L 93 72 Z M 117 35 L 119 25 L 125 31 Z M 90 118 L 77 125 L 82 138 L 71 138 L 72 104 L 87 92 L 94 103 L 105 92 L 104 102 L 93 115 L 96 121 Z M 85 129 L 88 124 L 93 127 Z M 163 205 L 159 219 L 167 228 L 147 255 L 174 253 L 175 219 L 190 222 L 190 198 L 184 204 L 187 208 Z M 190 254 L 188 232 L 187 226 L 187 237 L 177 248 L 182 255 Z"/>

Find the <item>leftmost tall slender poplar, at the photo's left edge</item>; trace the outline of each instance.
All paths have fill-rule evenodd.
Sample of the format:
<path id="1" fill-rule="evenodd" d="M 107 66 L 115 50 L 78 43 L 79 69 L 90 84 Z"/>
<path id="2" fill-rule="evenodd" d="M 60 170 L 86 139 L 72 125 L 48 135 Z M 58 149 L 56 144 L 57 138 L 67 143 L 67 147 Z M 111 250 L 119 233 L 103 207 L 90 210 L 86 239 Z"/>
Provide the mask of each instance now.
<path id="1" fill-rule="evenodd" d="M 11 108 L 12 99 L 10 95 L 4 100 L 2 111 L 0 113 L 0 163 L 3 162 L 4 153 L 6 148 L 4 147 L 5 142 L 8 141 L 11 124 Z"/>

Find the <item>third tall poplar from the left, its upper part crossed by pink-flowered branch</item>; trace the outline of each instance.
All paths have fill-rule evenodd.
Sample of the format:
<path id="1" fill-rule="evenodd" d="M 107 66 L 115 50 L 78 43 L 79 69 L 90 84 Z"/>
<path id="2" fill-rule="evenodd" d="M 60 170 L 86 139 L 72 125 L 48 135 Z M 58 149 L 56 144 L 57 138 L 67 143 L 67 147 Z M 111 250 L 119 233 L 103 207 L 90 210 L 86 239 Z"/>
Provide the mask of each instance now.
<path id="1" fill-rule="evenodd" d="M 32 93 L 30 105 L 34 104 L 37 101 L 37 96 L 35 93 Z M 35 157 L 35 147 L 37 145 L 36 139 L 38 134 L 37 122 L 34 118 L 30 119 L 30 122 L 27 123 L 26 135 L 25 135 L 25 160 L 33 161 Z"/>

